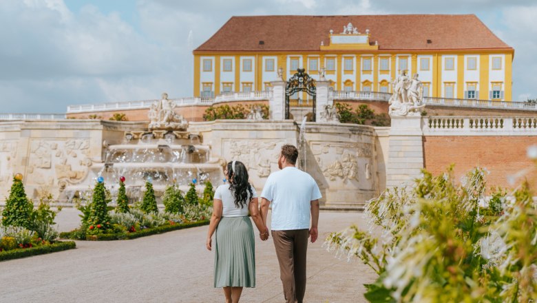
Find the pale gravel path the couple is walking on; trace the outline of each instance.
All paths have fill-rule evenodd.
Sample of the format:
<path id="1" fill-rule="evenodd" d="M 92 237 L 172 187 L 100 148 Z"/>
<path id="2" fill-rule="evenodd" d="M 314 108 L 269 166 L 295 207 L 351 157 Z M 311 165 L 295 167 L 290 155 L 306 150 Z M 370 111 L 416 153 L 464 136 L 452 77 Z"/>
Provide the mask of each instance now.
<path id="1" fill-rule="evenodd" d="M 56 218 L 59 229 L 78 225 L 76 209 Z M 319 240 L 308 248 L 306 302 L 366 302 L 364 283 L 375 273 L 322 247 L 330 231 L 364 226 L 361 213 L 323 212 Z M 77 241 L 76 249 L 0 262 L 0 302 L 223 302 L 213 288 L 213 252 L 206 227 L 135 240 Z M 257 233 L 256 233 L 257 234 Z M 241 302 L 284 302 L 272 240 L 255 243 L 257 287 Z"/>

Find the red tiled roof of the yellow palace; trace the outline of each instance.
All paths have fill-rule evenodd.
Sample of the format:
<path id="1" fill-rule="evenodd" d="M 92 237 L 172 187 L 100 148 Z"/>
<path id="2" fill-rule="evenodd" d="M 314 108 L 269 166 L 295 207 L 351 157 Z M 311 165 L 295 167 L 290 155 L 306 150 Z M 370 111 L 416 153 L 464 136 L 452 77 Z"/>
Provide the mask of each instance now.
<path id="1" fill-rule="evenodd" d="M 379 50 L 505 49 L 474 14 L 388 14 L 360 16 L 231 17 L 194 52 L 204 51 L 319 51 L 328 33 L 342 32 L 352 23 L 359 32 L 370 30 L 370 43 Z M 427 43 L 427 40 L 432 43 Z M 260 45 L 260 41 L 264 44 Z"/>

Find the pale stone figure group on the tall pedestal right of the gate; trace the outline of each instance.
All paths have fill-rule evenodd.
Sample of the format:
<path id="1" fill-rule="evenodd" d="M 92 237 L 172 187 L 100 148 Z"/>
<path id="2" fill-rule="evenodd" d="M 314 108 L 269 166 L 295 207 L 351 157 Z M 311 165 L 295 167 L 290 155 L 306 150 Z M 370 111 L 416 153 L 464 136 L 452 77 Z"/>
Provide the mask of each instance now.
<path id="1" fill-rule="evenodd" d="M 401 76 L 393 83 L 393 94 L 388 101 L 390 116 L 417 116 L 425 105 L 423 99 L 423 84 L 418 80 L 418 74 L 414 74 L 412 79 L 406 75 L 406 71 L 401 72 Z"/>

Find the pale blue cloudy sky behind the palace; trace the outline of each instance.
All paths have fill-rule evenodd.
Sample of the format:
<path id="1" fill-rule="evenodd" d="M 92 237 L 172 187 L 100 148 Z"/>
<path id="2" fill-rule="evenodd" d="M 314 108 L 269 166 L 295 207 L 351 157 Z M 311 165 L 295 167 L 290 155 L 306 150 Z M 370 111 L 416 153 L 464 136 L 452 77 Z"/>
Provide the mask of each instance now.
<path id="1" fill-rule="evenodd" d="M 476 14 L 515 49 L 513 98 L 537 97 L 534 0 L 0 0 L 0 112 L 192 95 L 191 50 L 231 16 Z"/>

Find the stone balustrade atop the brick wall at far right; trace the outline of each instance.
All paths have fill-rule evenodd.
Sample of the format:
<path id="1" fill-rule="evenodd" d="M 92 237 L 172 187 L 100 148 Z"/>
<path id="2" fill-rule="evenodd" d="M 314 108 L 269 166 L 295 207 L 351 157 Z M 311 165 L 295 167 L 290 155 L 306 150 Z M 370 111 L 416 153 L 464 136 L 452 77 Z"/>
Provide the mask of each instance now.
<path id="1" fill-rule="evenodd" d="M 537 135 L 537 117 L 423 117 L 425 136 Z"/>

